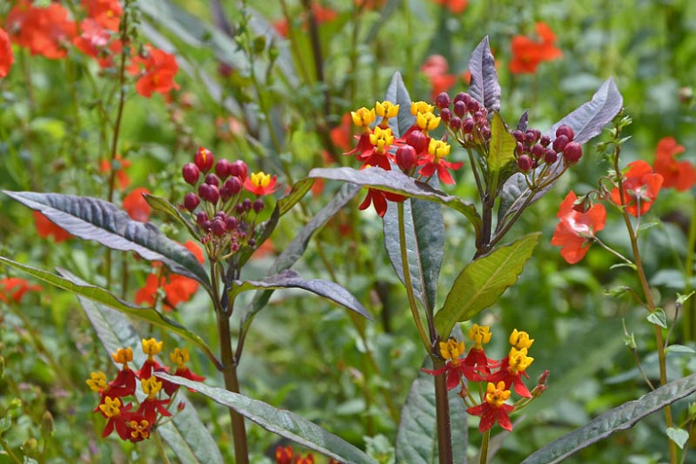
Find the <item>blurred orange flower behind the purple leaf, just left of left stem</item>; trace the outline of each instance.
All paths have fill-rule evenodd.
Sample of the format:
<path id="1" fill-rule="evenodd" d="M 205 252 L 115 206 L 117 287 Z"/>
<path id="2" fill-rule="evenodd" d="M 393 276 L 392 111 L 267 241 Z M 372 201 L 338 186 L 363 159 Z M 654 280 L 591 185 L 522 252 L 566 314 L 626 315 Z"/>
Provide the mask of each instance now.
<path id="1" fill-rule="evenodd" d="M 203 250 L 200 245 L 189 240 L 184 246 L 195 254 L 199 262 L 203 263 Z M 153 266 L 159 267 L 159 263 L 153 263 Z M 154 306 L 157 289 L 160 287 L 165 294 L 162 308 L 164 311 L 172 311 L 179 303 L 191 299 L 191 296 L 198 290 L 198 282 L 193 278 L 186 278 L 178 274 L 171 274 L 169 278 L 158 278 L 157 274 L 150 274 L 145 280 L 145 286 L 136 293 L 136 304 L 146 303 L 148 306 Z"/>

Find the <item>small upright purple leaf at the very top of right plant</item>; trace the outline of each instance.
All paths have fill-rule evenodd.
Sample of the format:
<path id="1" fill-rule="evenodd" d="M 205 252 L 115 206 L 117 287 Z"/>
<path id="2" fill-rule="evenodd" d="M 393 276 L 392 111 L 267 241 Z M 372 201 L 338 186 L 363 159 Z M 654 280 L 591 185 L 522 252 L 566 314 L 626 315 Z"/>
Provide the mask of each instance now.
<path id="1" fill-rule="evenodd" d="M 495 70 L 495 58 L 488 44 L 488 36 L 476 46 L 468 61 L 471 72 L 471 84 L 468 94 L 483 104 L 488 112 L 501 111 L 501 85 L 498 71 Z"/>

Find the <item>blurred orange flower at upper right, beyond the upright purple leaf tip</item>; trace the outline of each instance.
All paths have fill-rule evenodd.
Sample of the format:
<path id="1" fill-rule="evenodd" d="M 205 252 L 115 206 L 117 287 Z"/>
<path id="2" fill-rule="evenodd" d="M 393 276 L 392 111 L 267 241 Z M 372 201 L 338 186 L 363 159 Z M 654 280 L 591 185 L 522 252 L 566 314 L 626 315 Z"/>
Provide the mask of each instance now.
<path id="1" fill-rule="evenodd" d="M 553 45 L 556 35 L 543 22 L 536 23 L 536 33 L 541 42 L 525 36 L 512 37 L 512 61 L 510 72 L 513 74 L 534 74 L 540 62 L 549 62 L 563 56 L 563 53 Z"/>

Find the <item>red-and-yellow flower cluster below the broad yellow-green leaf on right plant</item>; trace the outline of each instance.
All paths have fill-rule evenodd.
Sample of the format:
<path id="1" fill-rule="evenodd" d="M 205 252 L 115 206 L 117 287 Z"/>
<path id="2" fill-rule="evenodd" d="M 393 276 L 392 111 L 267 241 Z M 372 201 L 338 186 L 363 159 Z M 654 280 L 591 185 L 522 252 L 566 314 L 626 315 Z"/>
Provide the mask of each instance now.
<path id="1" fill-rule="evenodd" d="M 502 360 L 492 360 L 485 354 L 484 345 L 491 341 L 492 332 L 488 326 L 474 324 L 468 331 L 468 338 L 474 344 L 466 352 L 463 341 L 450 338 L 439 345 L 440 357 L 445 360 L 442 369 L 423 369 L 427 374 L 446 376 L 447 389 L 460 387 L 460 396 L 468 405 L 467 412 L 480 416 L 479 430 L 490 430 L 497 422 L 506 430 L 512 430 L 510 412 L 516 410 L 521 402 L 543 393 L 548 371 L 540 377 L 533 391 L 529 391 L 522 377 L 529 377 L 526 369 L 534 358 L 527 351 L 534 343 L 526 332 L 518 329 L 510 334 L 510 352 Z M 466 356 L 465 356 L 466 354 Z M 481 391 L 478 401 L 474 398 L 470 382 L 485 382 L 485 392 Z M 523 398 L 517 406 L 507 404 L 511 391 Z"/>

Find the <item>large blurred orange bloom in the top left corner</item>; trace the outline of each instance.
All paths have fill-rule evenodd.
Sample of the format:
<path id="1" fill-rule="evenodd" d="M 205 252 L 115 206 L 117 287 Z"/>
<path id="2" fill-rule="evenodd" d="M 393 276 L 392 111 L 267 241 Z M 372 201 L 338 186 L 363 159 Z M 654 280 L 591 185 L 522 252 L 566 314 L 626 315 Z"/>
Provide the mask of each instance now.
<path id="1" fill-rule="evenodd" d="M 67 45 L 77 35 L 75 23 L 68 20 L 68 10 L 57 3 L 38 8 L 29 0 L 20 0 L 8 13 L 5 24 L 12 42 L 52 60 L 67 56 Z"/>

